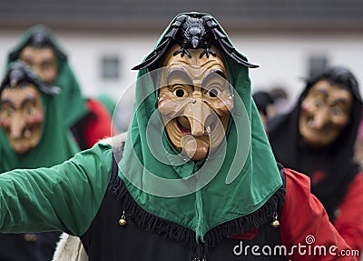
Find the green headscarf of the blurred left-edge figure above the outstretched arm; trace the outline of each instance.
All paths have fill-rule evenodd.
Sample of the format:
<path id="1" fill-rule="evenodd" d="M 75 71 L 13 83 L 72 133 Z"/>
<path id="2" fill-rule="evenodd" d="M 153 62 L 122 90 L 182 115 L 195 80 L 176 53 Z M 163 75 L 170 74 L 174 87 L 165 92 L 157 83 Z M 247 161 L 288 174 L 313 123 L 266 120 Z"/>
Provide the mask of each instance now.
<path id="1" fill-rule="evenodd" d="M 15 62 L 19 63 L 19 62 Z M 11 63 L 9 68 L 15 63 Z M 44 122 L 42 136 L 37 146 L 25 155 L 18 155 L 9 145 L 3 129 L 0 128 L 0 173 L 15 168 L 36 168 L 54 166 L 74 156 L 79 151 L 73 136 L 65 127 L 59 100 L 46 95 L 38 88 L 43 102 Z"/>

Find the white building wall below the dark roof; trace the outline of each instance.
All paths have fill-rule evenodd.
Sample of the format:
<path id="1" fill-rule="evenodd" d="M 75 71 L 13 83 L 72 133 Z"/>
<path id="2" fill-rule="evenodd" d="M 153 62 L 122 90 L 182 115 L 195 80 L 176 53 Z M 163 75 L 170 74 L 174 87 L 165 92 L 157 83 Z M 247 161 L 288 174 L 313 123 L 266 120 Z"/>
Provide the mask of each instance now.
<path id="1" fill-rule="evenodd" d="M 149 54 L 158 34 L 94 34 L 55 32 L 68 54 L 74 74 L 84 95 L 108 93 L 117 101 L 135 80 L 133 65 Z M 8 51 L 23 32 L 0 31 L 0 71 L 3 72 Z M 308 75 L 310 55 L 326 55 L 330 65 L 346 65 L 363 85 L 363 35 L 293 35 L 293 34 L 230 34 L 232 43 L 250 62 L 260 65 L 250 70 L 252 91 L 272 85 L 286 86 L 293 102 Z M 118 56 L 121 61 L 120 79 L 104 81 L 101 77 L 103 55 Z"/>

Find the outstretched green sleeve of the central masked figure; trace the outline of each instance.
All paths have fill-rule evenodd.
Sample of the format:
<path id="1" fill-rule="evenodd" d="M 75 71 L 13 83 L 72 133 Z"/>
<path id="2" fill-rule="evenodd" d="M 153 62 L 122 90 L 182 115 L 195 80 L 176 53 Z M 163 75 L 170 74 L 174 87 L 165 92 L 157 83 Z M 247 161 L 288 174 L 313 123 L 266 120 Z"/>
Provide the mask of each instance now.
<path id="1" fill-rule="evenodd" d="M 58 166 L 0 175 L 0 232 L 83 235 L 102 203 L 112 155 L 111 146 L 97 144 Z"/>

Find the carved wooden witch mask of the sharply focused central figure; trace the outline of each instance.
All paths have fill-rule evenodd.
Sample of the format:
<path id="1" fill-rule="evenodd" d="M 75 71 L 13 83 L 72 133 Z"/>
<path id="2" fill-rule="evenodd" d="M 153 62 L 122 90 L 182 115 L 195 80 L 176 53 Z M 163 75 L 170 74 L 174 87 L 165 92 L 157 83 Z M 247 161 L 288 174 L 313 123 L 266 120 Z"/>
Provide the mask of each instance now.
<path id="1" fill-rule="evenodd" d="M 158 108 L 172 145 L 183 155 L 201 160 L 221 145 L 229 124 L 233 98 L 221 53 L 164 59 Z"/>

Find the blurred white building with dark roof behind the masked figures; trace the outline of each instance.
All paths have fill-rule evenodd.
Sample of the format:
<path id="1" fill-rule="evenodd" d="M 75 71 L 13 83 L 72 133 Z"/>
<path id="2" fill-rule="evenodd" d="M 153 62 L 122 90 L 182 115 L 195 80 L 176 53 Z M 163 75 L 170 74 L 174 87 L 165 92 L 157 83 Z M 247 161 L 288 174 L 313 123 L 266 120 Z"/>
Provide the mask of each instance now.
<path id="1" fill-rule="evenodd" d="M 250 70 L 253 92 L 280 86 L 293 103 L 301 79 L 327 65 L 348 66 L 363 85 L 361 0 L 0 0 L 0 71 L 25 30 L 43 24 L 58 36 L 83 94 L 117 102 L 135 80 L 131 67 L 175 15 L 191 11 L 214 15 L 260 65 Z"/>

